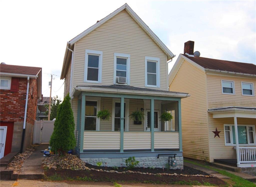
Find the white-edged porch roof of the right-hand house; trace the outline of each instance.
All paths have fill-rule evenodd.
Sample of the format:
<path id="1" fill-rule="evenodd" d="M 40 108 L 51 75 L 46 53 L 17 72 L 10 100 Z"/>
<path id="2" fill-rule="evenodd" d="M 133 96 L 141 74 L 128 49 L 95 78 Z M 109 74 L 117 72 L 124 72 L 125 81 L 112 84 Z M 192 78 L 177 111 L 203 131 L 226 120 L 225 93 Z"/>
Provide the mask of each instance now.
<path id="1" fill-rule="evenodd" d="M 256 107 L 221 107 L 208 109 L 213 118 L 256 118 Z"/>

